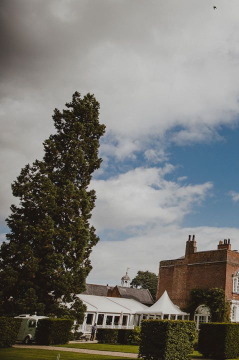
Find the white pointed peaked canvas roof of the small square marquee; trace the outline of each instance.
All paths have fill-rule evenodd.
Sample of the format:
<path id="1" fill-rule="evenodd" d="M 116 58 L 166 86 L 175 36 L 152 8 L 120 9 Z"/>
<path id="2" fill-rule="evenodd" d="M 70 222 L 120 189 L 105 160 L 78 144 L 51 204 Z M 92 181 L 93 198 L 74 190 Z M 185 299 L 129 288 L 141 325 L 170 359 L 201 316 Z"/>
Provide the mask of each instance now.
<path id="1" fill-rule="evenodd" d="M 173 314 L 173 315 L 187 315 L 186 312 L 183 312 L 179 309 L 178 306 L 174 305 L 170 297 L 165 290 L 161 297 L 150 307 L 147 308 L 145 313 L 163 313 L 163 314 Z"/>

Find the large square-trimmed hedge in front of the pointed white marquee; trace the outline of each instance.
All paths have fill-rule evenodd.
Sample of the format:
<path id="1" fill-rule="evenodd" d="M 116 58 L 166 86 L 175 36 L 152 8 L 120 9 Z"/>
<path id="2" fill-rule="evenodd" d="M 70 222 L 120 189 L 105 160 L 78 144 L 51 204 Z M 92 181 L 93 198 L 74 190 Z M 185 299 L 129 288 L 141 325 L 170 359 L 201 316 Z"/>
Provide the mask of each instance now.
<path id="1" fill-rule="evenodd" d="M 194 321 L 143 320 L 139 357 L 145 360 L 186 360 L 193 351 Z"/>

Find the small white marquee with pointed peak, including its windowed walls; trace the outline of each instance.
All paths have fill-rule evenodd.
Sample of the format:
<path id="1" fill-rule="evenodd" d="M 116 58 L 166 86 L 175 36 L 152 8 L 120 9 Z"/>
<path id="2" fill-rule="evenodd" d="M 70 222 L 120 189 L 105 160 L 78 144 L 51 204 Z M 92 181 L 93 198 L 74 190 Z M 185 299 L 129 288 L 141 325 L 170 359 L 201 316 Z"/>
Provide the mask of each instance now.
<path id="1" fill-rule="evenodd" d="M 135 317 L 135 324 L 140 325 L 141 320 L 146 319 L 188 320 L 189 313 L 181 311 L 177 305 L 174 305 L 165 290 L 153 305 L 146 311 L 137 311 Z"/>

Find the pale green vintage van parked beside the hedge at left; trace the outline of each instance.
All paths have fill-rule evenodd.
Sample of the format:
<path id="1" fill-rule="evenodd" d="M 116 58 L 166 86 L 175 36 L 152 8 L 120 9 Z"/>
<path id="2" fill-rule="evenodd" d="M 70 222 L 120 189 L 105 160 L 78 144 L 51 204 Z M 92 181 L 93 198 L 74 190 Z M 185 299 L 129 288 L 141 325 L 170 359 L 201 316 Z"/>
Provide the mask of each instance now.
<path id="1" fill-rule="evenodd" d="M 15 318 L 21 319 L 20 329 L 16 338 L 16 341 L 23 341 L 25 344 L 35 339 L 35 328 L 37 321 L 47 316 L 37 316 L 30 314 L 22 314 L 15 316 Z"/>

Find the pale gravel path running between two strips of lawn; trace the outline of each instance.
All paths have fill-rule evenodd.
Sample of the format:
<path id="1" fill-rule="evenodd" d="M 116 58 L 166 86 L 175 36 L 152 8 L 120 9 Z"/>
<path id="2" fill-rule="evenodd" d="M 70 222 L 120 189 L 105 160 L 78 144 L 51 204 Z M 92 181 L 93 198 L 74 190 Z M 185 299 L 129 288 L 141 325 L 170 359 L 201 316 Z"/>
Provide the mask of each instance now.
<path id="1" fill-rule="evenodd" d="M 136 353 L 132 352 L 118 352 L 118 351 L 101 351 L 101 350 L 90 350 L 90 349 L 80 349 L 73 347 L 60 347 L 60 346 L 44 346 L 44 345 L 13 345 L 12 347 L 20 347 L 20 348 L 38 348 L 42 350 L 57 350 L 57 351 L 71 351 L 71 352 L 83 352 L 83 353 L 91 353 L 95 355 L 110 355 L 117 357 L 132 357 L 137 358 Z"/>

